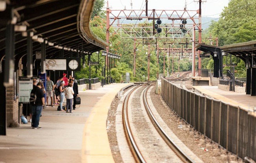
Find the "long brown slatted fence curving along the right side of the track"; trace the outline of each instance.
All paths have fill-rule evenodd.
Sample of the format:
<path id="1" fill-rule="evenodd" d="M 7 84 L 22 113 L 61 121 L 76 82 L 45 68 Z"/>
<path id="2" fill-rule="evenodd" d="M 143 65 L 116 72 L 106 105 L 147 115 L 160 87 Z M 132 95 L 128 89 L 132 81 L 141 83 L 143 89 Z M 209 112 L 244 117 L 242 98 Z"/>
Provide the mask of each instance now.
<path id="1" fill-rule="evenodd" d="M 194 129 L 228 151 L 256 161 L 256 116 L 234 106 L 179 88 L 162 78 L 163 99 Z"/>

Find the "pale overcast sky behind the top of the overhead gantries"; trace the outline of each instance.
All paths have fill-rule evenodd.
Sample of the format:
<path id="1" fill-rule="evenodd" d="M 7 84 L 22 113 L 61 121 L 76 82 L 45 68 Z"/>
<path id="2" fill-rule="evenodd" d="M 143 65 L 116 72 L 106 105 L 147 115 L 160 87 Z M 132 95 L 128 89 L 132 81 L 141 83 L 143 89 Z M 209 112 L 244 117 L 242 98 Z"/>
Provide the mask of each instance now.
<path id="1" fill-rule="evenodd" d="M 112 10 L 122 10 L 124 6 L 126 9 L 146 9 L 145 0 L 105 0 L 108 1 L 109 7 Z M 199 0 L 195 0 L 199 1 Z M 219 14 L 224 9 L 224 6 L 228 6 L 229 0 L 202 0 L 201 5 L 202 16 L 210 16 L 218 18 Z M 207 1 L 207 2 L 205 2 Z M 183 10 L 186 0 L 148 0 L 148 10 Z M 106 4 L 105 4 L 106 7 Z M 199 3 L 194 0 L 187 0 L 187 10 L 199 9 Z"/>

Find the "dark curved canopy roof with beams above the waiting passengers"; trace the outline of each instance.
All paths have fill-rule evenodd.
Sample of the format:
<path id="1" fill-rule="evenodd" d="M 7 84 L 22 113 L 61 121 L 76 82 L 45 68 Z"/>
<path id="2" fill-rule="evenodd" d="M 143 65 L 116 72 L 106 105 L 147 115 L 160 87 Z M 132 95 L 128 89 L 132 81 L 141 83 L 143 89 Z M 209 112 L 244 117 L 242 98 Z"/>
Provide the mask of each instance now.
<path id="1" fill-rule="evenodd" d="M 91 32 L 90 19 L 95 0 L 5 0 L 0 11 L 0 60 L 5 56 L 7 23 L 15 23 L 15 59 L 27 53 L 27 31 L 33 32 L 33 55 L 40 51 L 40 41 L 47 40 L 46 58 L 64 58 L 80 50 L 92 53 L 105 49 L 107 43 Z M 15 22 L 16 20 L 16 22 Z M 26 32 L 17 31 L 20 25 Z M 73 51 L 71 51 L 73 49 Z"/>

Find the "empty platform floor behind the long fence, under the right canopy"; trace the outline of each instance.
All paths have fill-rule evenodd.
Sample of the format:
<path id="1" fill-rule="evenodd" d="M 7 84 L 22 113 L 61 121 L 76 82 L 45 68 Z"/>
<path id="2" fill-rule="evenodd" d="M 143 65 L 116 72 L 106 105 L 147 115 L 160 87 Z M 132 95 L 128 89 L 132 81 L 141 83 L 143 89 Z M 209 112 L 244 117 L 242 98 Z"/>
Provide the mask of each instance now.
<path id="1" fill-rule="evenodd" d="M 218 89 L 218 86 L 193 86 L 193 88 L 204 95 L 208 95 L 225 103 L 256 111 L 256 96 L 251 96 L 245 92 L 223 91 Z"/>

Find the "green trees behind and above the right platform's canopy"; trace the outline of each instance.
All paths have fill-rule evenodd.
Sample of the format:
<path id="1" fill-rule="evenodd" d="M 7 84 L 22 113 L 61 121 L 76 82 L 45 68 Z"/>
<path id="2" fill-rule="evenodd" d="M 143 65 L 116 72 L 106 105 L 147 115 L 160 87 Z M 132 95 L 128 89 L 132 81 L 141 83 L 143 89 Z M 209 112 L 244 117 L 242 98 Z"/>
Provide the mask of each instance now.
<path id="1" fill-rule="evenodd" d="M 219 21 L 212 22 L 208 30 L 204 31 L 205 36 L 218 37 L 219 46 L 256 40 L 255 2 L 256 0 L 230 0 L 229 5 L 223 9 Z M 232 58 L 232 62 L 236 63 L 235 57 Z M 226 57 L 223 58 L 223 64 L 226 64 Z M 213 69 L 213 61 L 207 58 L 202 59 L 201 65 L 203 69 Z M 246 76 L 246 67 L 242 60 L 238 60 L 235 70 L 237 77 Z"/>

